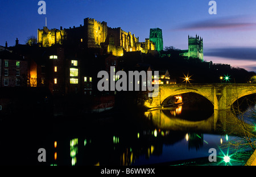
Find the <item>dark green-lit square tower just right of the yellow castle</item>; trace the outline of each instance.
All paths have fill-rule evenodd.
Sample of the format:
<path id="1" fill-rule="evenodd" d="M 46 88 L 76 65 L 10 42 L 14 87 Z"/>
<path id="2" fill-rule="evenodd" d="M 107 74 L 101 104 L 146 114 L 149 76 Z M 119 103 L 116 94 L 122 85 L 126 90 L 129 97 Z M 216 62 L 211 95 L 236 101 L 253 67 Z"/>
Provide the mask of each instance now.
<path id="1" fill-rule="evenodd" d="M 155 49 L 163 50 L 163 34 L 160 28 L 150 28 L 150 40 L 155 43 Z"/>

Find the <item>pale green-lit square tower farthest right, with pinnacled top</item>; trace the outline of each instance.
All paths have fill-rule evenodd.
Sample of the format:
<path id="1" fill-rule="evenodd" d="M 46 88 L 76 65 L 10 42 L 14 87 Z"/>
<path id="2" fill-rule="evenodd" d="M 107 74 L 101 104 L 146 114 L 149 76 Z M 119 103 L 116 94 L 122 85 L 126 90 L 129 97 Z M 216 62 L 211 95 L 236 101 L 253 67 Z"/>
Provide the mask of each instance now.
<path id="1" fill-rule="evenodd" d="M 204 60 L 203 54 L 203 38 L 196 35 L 196 37 L 192 37 L 188 35 L 188 58 L 199 58 L 200 60 Z"/>

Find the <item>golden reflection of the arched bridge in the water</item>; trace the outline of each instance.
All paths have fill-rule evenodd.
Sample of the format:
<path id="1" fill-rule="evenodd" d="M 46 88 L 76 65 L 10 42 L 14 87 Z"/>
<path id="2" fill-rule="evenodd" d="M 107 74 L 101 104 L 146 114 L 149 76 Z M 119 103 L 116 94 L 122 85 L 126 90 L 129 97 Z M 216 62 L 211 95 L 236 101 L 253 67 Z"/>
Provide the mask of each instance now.
<path id="1" fill-rule="evenodd" d="M 161 109 L 145 112 L 152 123 L 161 130 L 180 130 L 187 132 L 202 132 L 212 134 L 232 134 L 244 136 L 244 129 L 236 115 L 231 111 L 214 110 L 212 116 L 200 121 L 184 120 L 178 117 L 169 117 Z M 251 125 L 245 124 L 250 127 Z M 225 133 L 224 133 L 225 132 Z"/>

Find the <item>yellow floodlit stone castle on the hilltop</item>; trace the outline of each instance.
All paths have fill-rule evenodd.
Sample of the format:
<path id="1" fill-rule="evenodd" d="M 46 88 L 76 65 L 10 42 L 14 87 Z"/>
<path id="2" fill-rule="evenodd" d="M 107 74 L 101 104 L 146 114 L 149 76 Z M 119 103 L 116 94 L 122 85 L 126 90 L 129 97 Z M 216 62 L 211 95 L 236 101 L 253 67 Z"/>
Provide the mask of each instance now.
<path id="1" fill-rule="evenodd" d="M 114 56 L 123 56 L 123 52 L 148 53 L 156 50 L 154 40 L 145 39 L 144 42 L 139 42 L 139 37 L 131 35 L 131 32 L 125 32 L 120 27 L 110 28 L 106 22 L 97 22 L 92 18 L 85 18 L 84 26 L 80 27 L 38 29 L 38 43 L 42 47 L 63 44 L 65 41 L 80 43 L 87 48 L 101 48 L 105 52 L 112 52 Z"/>

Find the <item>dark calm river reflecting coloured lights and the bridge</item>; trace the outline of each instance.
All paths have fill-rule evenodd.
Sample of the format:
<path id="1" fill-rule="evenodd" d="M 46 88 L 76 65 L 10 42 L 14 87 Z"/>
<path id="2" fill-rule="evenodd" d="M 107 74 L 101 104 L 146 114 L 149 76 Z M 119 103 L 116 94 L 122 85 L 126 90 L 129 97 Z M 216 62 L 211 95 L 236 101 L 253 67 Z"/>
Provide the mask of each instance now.
<path id="1" fill-rule="evenodd" d="M 252 116 L 255 106 L 247 108 Z M 227 118 L 228 117 L 228 118 Z M 1 163 L 5 165 L 184 165 L 202 158 L 208 163 L 209 149 L 217 150 L 218 161 L 232 149 L 221 145 L 232 140 L 227 135 L 230 118 L 200 104 L 143 113 L 122 113 L 59 117 L 56 120 L 1 121 Z M 27 124 L 27 125 L 26 125 Z M 38 149 L 46 150 L 46 162 L 38 162 Z M 196 163 L 195 163 L 196 164 Z"/>

